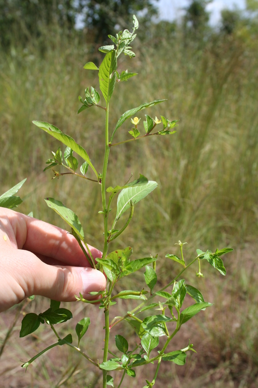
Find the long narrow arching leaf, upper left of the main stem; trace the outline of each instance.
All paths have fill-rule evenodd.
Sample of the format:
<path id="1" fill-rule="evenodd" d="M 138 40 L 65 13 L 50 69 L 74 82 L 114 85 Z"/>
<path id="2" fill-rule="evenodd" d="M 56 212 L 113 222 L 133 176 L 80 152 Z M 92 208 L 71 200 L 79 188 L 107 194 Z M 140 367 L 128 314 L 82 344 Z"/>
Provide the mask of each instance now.
<path id="1" fill-rule="evenodd" d="M 79 144 L 77 144 L 76 141 L 71 136 L 66 135 L 65 133 L 61 132 L 60 129 L 58 129 L 52 124 L 46 123 L 45 121 L 32 121 L 32 123 L 35 124 L 40 129 L 45 130 L 46 133 L 49 133 L 51 136 L 59 140 L 65 146 L 72 148 L 79 156 L 81 156 L 86 162 L 89 163 L 92 170 L 94 171 L 94 174 L 98 178 L 98 173 L 95 170 L 93 164 L 91 163 L 89 155 L 87 154 L 85 149 Z"/>

